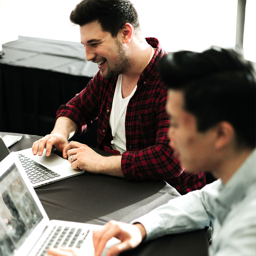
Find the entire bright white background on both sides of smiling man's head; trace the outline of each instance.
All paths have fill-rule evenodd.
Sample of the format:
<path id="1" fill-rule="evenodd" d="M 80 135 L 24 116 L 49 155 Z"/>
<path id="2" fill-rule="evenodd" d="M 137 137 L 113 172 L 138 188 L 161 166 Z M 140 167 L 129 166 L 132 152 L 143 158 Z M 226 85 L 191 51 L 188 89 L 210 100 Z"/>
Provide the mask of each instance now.
<path id="1" fill-rule="evenodd" d="M 69 14 L 78 2 L 0 0 L 0 41 L 21 35 L 80 42 L 78 27 L 69 21 Z M 247 0 L 247 5 L 250 2 L 252 7 L 247 8 L 246 15 L 251 13 L 250 19 L 255 20 L 252 13 L 256 1 Z M 157 37 L 166 51 L 202 51 L 211 45 L 235 46 L 236 0 L 132 0 L 132 3 L 139 13 L 143 35 Z M 251 27 L 252 31 L 250 23 L 254 21 L 245 22 L 248 28 L 245 29 L 244 54 L 251 59 L 256 45 L 255 41 L 252 44 L 251 37 L 255 32 L 248 32 L 248 29 Z M 256 22 L 252 24 L 255 26 Z M 251 52 L 247 54 L 250 47 Z"/>

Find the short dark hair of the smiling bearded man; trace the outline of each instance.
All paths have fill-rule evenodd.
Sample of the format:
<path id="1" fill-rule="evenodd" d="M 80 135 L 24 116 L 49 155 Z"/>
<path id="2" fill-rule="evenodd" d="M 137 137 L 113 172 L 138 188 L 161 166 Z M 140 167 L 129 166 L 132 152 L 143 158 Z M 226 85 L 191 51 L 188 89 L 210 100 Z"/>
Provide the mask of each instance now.
<path id="1" fill-rule="evenodd" d="M 76 5 L 69 18 L 79 26 L 98 20 L 102 29 L 113 37 L 128 22 L 132 24 L 135 35 L 140 36 L 138 13 L 128 0 L 83 0 Z"/>

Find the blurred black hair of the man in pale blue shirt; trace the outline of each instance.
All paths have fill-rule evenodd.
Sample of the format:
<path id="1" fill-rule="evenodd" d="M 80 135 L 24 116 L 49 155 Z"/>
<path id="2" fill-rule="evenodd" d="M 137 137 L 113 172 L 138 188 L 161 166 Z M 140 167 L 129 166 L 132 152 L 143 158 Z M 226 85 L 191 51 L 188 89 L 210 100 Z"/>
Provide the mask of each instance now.
<path id="1" fill-rule="evenodd" d="M 236 131 L 239 145 L 255 148 L 256 81 L 252 63 L 231 49 L 180 51 L 159 63 L 163 82 L 184 92 L 184 109 L 204 132 L 221 121 Z"/>

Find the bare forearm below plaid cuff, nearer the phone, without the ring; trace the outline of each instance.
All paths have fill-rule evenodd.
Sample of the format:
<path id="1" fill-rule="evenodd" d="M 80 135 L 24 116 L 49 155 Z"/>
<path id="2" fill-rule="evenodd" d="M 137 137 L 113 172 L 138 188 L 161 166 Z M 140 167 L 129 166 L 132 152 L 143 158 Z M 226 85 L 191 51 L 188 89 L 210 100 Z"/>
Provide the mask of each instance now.
<path id="1" fill-rule="evenodd" d="M 66 116 L 60 116 L 56 120 L 55 126 L 51 134 L 58 133 L 65 138 L 70 139 L 77 132 L 78 127 L 74 121 Z"/>

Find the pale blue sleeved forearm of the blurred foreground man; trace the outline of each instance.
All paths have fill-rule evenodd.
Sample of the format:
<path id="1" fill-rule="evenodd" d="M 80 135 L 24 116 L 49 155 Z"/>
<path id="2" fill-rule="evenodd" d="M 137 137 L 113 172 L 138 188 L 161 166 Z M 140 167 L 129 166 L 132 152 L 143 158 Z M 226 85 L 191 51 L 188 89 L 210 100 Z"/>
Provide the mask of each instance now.
<path id="1" fill-rule="evenodd" d="M 161 205 L 148 214 L 132 221 L 141 223 L 147 233 L 147 240 L 167 234 L 177 234 L 196 229 L 203 229 L 212 224 L 210 197 L 214 193 L 192 191 L 176 197 L 167 204 Z"/>

